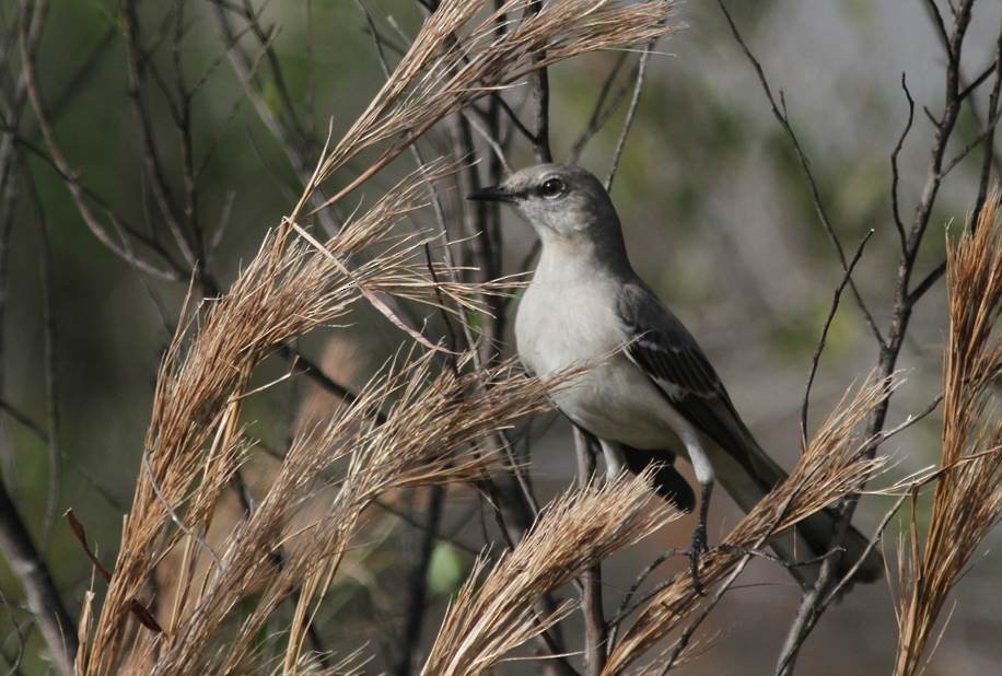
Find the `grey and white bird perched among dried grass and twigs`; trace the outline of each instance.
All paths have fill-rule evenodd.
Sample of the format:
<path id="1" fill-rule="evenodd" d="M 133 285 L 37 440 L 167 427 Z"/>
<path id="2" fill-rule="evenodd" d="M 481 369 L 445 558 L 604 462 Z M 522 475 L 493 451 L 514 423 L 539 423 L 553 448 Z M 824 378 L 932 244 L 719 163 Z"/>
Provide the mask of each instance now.
<path id="1" fill-rule="evenodd" d="M 597 439 L 607 476 L 651 467 L 654 487 L 692 512 L 696 494 L 675 467 L 681 456 L 699 483 L 699 512 L 687 552 L 697 590 L 699 557 L 708 551 L 707 515 L 719 481 L 745 512 L 787 478 L 755 440 L 692 334 L 633 270 L 616 208 L 603 184 L 572 164 L 539 164 L 477 189 L 471 200 L 510 203 L 536 231 L 541 250 L 519 304 L 515 342 L 525 369 L 552 375 L 585 369 L 554 394 L 557 408 Z M 804 588 L 816 581 L 837 515 L 830 508 L 797 524 L 795 541 L 770 545 Z M 884 572 L 875 548 L 849 527 L 841 571 L 861 558 L 853 582 Z M 866 553 L 863 557 L 864 552 Z"/>

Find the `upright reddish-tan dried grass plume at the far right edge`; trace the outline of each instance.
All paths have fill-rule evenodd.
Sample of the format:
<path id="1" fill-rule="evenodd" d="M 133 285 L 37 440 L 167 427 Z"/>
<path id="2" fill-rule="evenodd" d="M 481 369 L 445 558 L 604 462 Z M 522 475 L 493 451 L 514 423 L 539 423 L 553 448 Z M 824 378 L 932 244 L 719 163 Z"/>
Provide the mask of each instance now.
<path id="1" fill-rule="evenodd" d="M 895 674 L 910 676 L 951 590 L 1002 514 L 1002 419 L 991 407 L 1002 374 L 1002 213 L 995 188 L 977 226 L 946 241 L 949 337 L 943 373 L 943 454 L 924 547 L 912 517 L 900 559 Z"/>

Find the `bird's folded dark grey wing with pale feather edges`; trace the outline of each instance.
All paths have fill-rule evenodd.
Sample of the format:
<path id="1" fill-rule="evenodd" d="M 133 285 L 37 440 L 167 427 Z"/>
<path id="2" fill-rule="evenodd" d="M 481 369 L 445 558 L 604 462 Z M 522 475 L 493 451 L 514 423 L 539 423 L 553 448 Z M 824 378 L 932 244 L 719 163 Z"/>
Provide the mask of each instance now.
<path id="1" fill-rule="evenodd" d="M 627 357 L 690 424 L 734 457 L 768 491 L 772 487 L 771 473 L 757 467 L 756 462 L 761 450 L 683 323 L 639 281 L 624 284 L 617 312 L 630 338 Z"/>

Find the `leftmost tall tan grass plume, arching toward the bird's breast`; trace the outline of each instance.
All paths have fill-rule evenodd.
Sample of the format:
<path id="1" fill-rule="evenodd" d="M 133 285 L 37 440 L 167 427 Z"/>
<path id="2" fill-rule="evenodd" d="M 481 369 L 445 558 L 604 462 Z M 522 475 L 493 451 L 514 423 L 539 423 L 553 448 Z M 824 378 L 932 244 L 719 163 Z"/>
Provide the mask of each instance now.
<path id="1" fill-rule="evenodd" d="M 422 205 L 422 180 L 415 175 L 396 186 L 327 242 L 324 254 L 291 237 L 289 226 L 279 228 L 230 292 L 207 302 L 178 330 L 161 366 L 132 510 L 96 621 L 88 673 L 114 673 L 124 616 L 168 548 L 160 543 L 164 525 L 183 525 L 183 505 L 187 526 L 182 531 L 198 531 L 210 517 L 238 466 L 240 406 L 265 357 L 348 312 L 362 283 L 371 291 L 432 304 L 446 298 L 458 306 L 479 307 L 476 299 L 482 289 L 436 285 L 427 270 L 411 265 L 413 252 L 426 241 L 394 234 L 394 223 Z M 346 273 L 339 261 L 380 244 L 384 250 Z"/>

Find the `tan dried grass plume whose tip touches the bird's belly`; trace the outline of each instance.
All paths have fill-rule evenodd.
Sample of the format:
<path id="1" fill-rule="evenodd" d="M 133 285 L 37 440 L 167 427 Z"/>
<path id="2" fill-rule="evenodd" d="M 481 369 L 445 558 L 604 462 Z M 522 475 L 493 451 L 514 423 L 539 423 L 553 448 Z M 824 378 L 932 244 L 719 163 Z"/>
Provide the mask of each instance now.
<path id="1" fill-rule="evenodd" d="M 240 673 L 255 664 L 268 618 L 303 581 L 313 581 L 303 586 L 300 605 L 306 611 L 288 641 L 284 673 L 296 673 L 305 660 L 302 637 L 310 606 L 326 592 L 363 511 L 387 491 L 481 477 L 494 458 L 454 451 L 548 409 L 548 394 L 562 382 L 526 377 L 511 363 L 462 376 L 451 370 L 435 375 L 432 357 L 388 368 L 328 426 L 300 436 L 254 512 L 226 538 L 218 563 L 191 582 L 190 597 L 172 621 L 175 629 L 141 633 L 116 673 L 149 673 L 147 658 L 154 650 L 155 675 Z M 382 424 L 372 416 L 374 407 L 387 410 Z M 299 508 L 322 488 L 317 477 L 329 475 L 338 461 L 348 467 L 329 508 L 290 532 Z M 275 570 L 271 556 L 280 546 L 287 556 Z M 252 594 L 254 609 L 236 636 L 221 644 L 221 628 Z"/>

